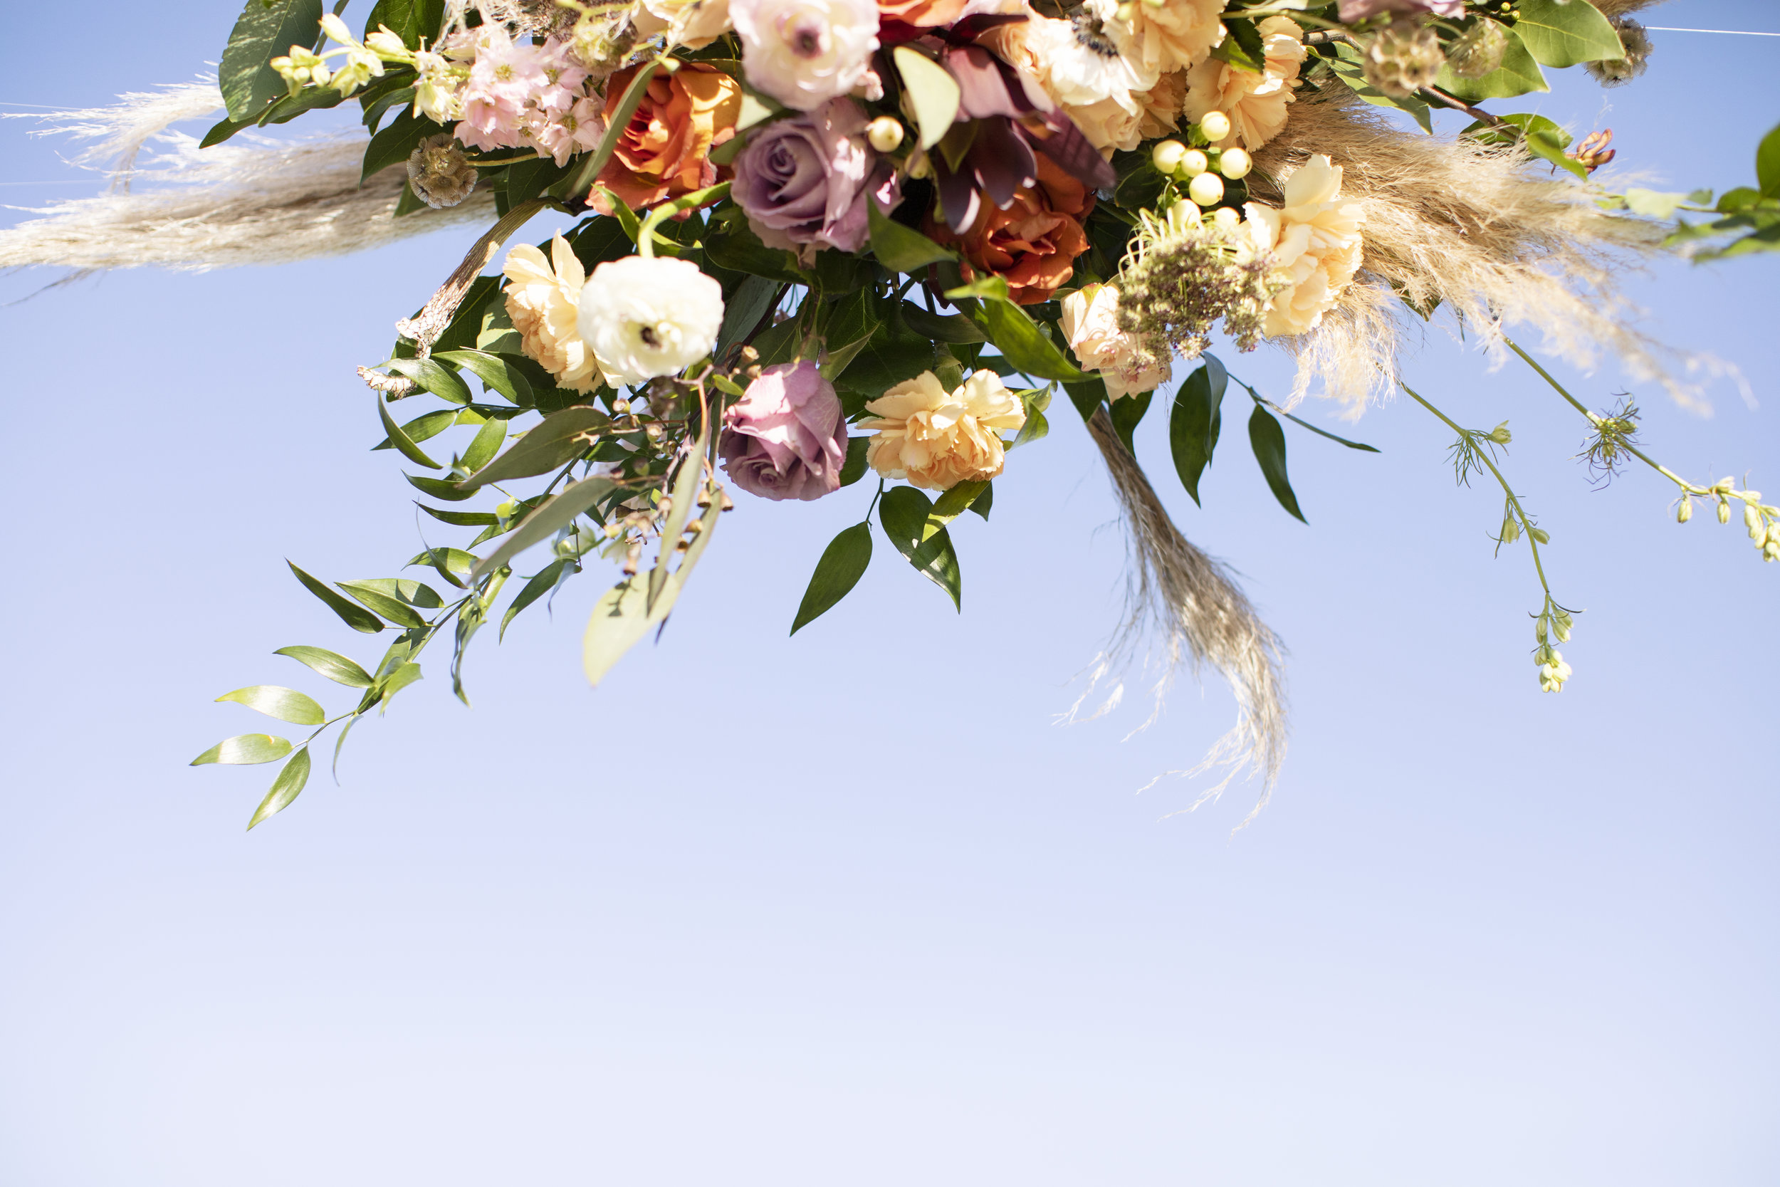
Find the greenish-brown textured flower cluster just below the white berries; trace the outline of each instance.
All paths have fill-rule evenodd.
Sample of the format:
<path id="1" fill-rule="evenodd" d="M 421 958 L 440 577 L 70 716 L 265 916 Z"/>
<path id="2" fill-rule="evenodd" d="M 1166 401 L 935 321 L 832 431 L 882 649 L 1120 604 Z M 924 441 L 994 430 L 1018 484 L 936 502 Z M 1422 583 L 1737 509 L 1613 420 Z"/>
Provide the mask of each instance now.
<path id="1" fill-rule="evenodd" d="M 1223 319 L 1237 349 L 1260 342 L 1267 304 L 1285 287 L 1255 238 L 1189 201 L 1166 215 L 1139 212 L 1118 274 L 1118 326 L 1132 343 L 1132 367 L 1166 363 L 1169 352 L 1196 358 Z"/>

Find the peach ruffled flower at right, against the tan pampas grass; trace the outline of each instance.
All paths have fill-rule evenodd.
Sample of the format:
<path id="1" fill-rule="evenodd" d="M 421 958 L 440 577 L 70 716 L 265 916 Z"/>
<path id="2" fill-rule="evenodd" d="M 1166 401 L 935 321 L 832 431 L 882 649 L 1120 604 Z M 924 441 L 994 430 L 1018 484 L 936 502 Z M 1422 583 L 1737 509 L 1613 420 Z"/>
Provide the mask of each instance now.
<path id="1" fill-rule="evenodd" d="M 1257 251 L 1269 253 L 1276 276 L 1289 281 L 1267 306 L 1262 333 L 1269 338 L 1317 327 L 1360 271 L 1360 203 L 1342 201 L 1340 166 L 1312 157 L 1285 180 L 1285 206 L 1248 203 L 1248 233 Z"/>

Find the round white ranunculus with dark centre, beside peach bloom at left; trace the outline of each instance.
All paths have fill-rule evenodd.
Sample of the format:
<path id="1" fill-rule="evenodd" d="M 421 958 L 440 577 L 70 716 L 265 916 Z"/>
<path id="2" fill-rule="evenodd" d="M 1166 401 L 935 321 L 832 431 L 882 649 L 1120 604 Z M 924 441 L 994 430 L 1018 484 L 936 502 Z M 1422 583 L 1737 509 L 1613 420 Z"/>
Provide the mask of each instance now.
<path id="1" fill-rule="evenodd" d="M 716 345 L 723 287 L 689 260 L 612 260 L 582 287 L 575 324 L 607 383 L 673 375 Z"/>

